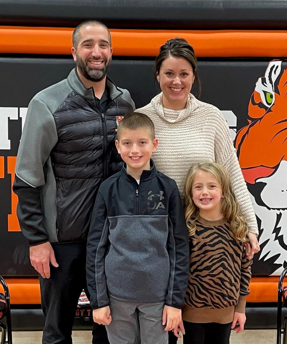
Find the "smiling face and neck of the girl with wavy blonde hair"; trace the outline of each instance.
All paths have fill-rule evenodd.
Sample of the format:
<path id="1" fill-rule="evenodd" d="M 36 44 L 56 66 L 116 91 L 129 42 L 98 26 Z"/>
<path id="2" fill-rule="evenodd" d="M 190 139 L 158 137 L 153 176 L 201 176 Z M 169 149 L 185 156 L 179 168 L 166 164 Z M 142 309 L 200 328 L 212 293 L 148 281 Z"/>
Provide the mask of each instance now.
<path id="1" fill-rule="evenodd" d="M 207 220 L 219 220 L 223 217 L 221 210 L 222 189 L 217 179 L 209 172 L 199 170 L 192 183 L 192 199 L 199 208 L 199 215 Z"/>

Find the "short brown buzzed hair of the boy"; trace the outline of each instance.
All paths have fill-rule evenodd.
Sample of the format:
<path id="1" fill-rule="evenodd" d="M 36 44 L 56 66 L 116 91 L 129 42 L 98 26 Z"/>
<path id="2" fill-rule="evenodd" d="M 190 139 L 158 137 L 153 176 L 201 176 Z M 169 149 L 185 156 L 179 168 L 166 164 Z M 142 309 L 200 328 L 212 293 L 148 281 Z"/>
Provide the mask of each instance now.
<path id="1" fill-rule="evenodd" d="M 125 129 L 146 129 L 149 131 L 152 140 L 156 138 L 152 120 L 141 112 L 130 112 L 124 116 L 117 128 L 117 140 L 119 140 L 121 133 Z"/>

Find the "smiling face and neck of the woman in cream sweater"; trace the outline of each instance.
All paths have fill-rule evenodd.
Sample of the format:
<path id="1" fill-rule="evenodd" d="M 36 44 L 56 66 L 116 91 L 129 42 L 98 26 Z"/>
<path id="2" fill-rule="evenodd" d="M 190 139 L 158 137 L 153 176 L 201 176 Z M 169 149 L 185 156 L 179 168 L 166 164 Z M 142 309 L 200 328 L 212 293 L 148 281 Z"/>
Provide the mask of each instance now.
<path id="1" fill-rule="evenodd" d="M 192 65 L 185 58 L 167 57 L 157 75 L 162 90 L 163 107 L 173 110 L 184 109 L 194 78 Z"/>

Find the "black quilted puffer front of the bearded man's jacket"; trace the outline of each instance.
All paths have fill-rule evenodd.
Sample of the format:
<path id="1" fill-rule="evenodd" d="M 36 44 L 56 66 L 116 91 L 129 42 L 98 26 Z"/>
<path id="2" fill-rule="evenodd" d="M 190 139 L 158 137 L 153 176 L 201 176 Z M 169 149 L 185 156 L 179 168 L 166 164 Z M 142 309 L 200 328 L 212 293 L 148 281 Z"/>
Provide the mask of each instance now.
<path id="1" fill-rule="evenodd" d="M 111 86 L 111 82 L 109 82 Z M 53 114 L 58 142 L 51 152 L 57 195 L 59 241 L 85 240 L 101 182 L 120 170 L 115 147 L 116 117 L 133 107 L 113 86 L 102 114 L 94 99 L 72 92 Z"/>

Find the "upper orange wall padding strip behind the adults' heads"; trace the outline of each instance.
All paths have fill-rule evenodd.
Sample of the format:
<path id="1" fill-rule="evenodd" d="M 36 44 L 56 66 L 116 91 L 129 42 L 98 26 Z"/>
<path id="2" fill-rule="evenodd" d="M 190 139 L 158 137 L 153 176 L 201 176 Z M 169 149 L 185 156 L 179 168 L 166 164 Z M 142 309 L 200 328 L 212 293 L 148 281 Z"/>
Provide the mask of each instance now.
<path id="1" fill-rule="evenodd" d="M 72 28 L 0 26 L 0 53 L 71 54 Z M 287 57 L 287 31 L 110 30 L 116 56 L 156 56 L 166 40 L 181 36 L 197 57 Z"/>

